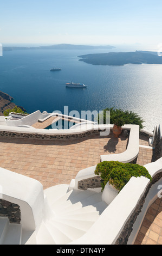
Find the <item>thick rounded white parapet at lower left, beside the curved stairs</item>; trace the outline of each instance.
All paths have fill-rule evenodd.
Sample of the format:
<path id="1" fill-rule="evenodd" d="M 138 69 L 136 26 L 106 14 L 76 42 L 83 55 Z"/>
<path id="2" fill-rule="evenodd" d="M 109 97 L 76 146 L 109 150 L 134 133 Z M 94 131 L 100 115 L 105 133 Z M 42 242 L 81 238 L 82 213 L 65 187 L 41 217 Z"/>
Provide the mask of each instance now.
<path id="1" fill-rule="evenodd" d="M 18 204 L 23 230 L 35 230 L 42 222 L 42 184 L 27 176 L 0 167 L 1 199 Z"/>

